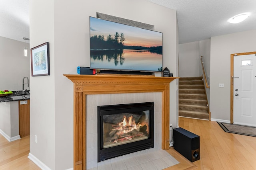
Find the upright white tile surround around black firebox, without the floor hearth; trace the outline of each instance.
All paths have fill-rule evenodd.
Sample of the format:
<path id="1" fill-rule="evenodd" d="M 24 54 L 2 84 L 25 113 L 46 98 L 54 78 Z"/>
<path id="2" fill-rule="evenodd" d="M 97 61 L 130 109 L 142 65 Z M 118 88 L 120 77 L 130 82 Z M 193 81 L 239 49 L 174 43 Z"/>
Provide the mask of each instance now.
<path id="1" fill-rule="evenodd" d="M 102 164 L 108 164 L 110 161 L 115 161 L 120 158 L 129 158 L 136 156 L 142 152 L 150 152 L 152 150 L 161 149 L 162 139 L 162 93 L 161 92 L 146 92 L 146 93 L 126 93 L 126 94 L 96 94 L 86 96 L 86 169 L 94 168 Z M 154 103 L 154 148 L 142 150 L 139 152 L 128 153 L 116 158 L 98 161 L 98 106 L 112 106 L 120 104 L 138 104 L 144 102 Z M 129 140 L 127 140 L 129 141 Z M 113 142 L 115 144 L 115 142 Z M 150 144 L 148 144 L 150 145 Z"/>

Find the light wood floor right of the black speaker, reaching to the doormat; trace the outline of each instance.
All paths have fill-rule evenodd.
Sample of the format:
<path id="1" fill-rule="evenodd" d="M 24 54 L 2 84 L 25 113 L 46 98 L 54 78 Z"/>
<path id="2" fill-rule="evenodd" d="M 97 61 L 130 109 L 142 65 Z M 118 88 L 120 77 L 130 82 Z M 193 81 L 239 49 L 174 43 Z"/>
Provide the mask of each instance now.
<path id="1" fill-rule="evenodd" d="M 256 137 L 226 133 L 215 121 L 179 117 L 179 127 L 200 136 L 201 170 L 256 170 Z"/>

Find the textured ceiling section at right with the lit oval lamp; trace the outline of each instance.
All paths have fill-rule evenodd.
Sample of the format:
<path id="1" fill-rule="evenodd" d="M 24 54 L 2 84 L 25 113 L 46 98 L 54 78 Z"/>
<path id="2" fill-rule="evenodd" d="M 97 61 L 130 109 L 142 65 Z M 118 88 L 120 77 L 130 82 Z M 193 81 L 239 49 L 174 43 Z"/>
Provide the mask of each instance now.
<path id="1" fill-rule="evenodd" d="M 180 44 L 256 29 L 256 0 L 147 1 L 177 11 Z M 227 22 L 232 16 L 245 12 L 251 13 L 245 21 Z"/>

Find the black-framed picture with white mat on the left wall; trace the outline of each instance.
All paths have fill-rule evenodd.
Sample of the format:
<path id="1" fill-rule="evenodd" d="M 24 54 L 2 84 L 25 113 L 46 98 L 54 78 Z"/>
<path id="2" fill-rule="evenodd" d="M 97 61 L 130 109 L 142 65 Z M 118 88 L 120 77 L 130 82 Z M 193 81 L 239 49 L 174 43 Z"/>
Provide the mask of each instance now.
<path id="1" fill-rule="evenodd" d="M 30 49 L 32 76 L 50 75 L 49 42 Z"/>

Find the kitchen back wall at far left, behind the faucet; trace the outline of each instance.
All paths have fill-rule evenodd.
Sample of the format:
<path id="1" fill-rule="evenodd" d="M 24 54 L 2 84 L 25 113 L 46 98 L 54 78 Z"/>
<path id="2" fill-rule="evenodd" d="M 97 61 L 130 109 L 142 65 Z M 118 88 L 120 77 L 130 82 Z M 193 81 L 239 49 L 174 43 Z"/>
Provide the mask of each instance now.
<path id="1" fill-rule="evenodd" d="M 0 90 L 22 90 L 22 80 L 30 76 L 30 53 L 24 57 L 29 44 L 0 37 Z"/>

